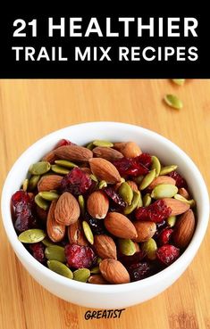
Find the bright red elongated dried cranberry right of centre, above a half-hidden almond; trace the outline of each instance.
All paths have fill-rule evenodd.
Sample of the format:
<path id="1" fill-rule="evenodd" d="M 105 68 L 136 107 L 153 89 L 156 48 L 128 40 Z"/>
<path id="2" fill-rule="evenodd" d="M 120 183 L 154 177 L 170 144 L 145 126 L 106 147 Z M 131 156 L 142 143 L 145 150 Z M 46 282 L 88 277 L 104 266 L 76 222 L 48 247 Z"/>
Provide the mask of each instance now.
<path id="1" fill-rule="evenodd" d="M 170 207 L 167 207 L 164 200 L 157 200 L 147 207 L 139 207 L 135 212 L 138 220 L 151 220 L 155 223 L 161 222 L 172 214 Z"/>

